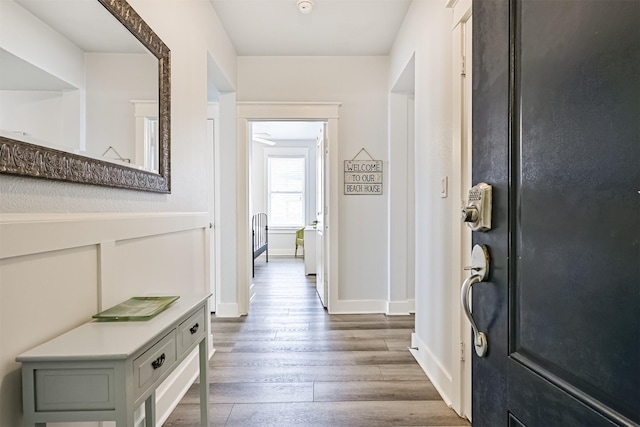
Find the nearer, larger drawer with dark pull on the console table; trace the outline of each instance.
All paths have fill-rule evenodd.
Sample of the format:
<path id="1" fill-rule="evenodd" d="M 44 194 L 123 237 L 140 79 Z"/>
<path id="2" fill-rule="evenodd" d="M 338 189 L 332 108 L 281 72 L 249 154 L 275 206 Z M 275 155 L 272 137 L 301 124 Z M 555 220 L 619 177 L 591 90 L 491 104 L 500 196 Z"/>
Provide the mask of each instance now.
<path id="1" fill-rule="evenodd" d="M 173 330 L 133 361 L 133 378 L 136 391 L 144 391 L 158 380 L 162 374 L 170 371 L 175 362 L 176 338 L 175 330 Z"/>

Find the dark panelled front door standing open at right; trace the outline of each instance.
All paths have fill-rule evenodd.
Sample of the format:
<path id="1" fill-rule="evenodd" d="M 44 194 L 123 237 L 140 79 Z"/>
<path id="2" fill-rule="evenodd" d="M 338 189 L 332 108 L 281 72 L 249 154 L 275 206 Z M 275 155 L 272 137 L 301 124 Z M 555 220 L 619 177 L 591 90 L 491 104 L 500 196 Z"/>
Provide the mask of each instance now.
<path id="1" fill-rule="evenodd" d="M 474 426 L 640 424 L 640 1 L 474 0 Z"/>

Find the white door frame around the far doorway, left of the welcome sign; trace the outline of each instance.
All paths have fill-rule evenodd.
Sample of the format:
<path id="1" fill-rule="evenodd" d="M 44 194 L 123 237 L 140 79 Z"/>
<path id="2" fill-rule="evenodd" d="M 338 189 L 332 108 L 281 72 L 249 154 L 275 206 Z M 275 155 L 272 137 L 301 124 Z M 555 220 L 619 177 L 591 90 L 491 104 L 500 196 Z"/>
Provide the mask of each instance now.
<path id="1" fill-rule="evenodd" d="M 338 196 L 340 187 L 338 177 L 338 110 L 339 102 L 237 102 L 237 302 L 238 313 L 249 313 L 251 286 L 251 212 L 250 208 L 250 122 L 270 121 L 326 121 L 327 135 L 325 141 L 328 150 L 325 170 L 325 188 L 329 190 L 328 209 L 325 210 L 324 244 L 327 257 L 324 260 L 324 271 L 328 282 L 327 310 L 335 306 L 338 299 Z M 333 238 L 332 238 L 333 237 Z"/>

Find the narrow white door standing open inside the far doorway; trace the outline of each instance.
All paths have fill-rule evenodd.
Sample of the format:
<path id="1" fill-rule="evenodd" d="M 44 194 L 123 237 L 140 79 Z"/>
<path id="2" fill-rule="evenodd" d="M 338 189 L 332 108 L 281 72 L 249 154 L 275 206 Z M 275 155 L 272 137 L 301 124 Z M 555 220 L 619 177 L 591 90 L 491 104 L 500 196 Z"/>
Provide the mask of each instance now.
<path id="1" fill-rule="evenodd" d="M 322 126 L 316 144 L 316 289 L 322 305 L 327 307 L 327 283 L 325 280 L 325 244 L 324 244 L 324 211 L 325 211 L 325 129 L 327 124 Z"/>

